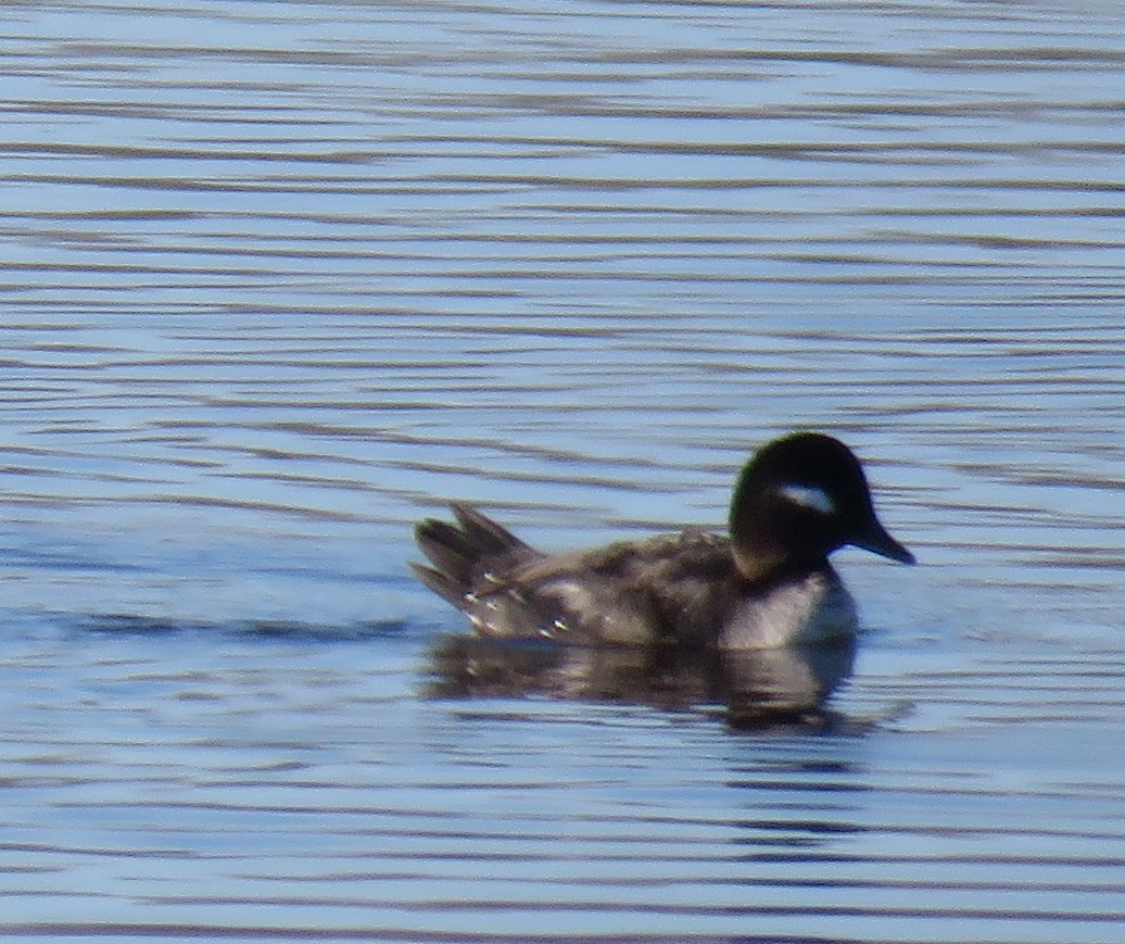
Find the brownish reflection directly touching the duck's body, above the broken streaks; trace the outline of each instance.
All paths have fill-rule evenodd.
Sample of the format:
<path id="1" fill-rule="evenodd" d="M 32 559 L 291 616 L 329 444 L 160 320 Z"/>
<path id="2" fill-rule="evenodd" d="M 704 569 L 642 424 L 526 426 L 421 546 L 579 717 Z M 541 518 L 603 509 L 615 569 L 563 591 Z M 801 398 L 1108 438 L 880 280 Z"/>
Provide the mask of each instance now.
<path id="1" fill-rule="evenodd" d="M 546 694 L 668 710 L 721 705 L 736 727 L 807 721 L 852 674 L 853 638 L 819 646 L 717 653 L 680 646 L 558 646 L 443 636 L 431 653 L 430 694 Z"/>

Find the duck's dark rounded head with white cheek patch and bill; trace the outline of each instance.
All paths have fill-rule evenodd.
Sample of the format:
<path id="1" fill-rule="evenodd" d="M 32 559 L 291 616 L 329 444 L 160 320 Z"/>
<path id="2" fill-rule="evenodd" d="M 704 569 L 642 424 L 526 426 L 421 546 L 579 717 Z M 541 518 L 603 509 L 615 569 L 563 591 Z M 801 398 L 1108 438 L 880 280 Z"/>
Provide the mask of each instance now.
<path id="1" fill-rule="evenodd" d="M 915 563 L 875 516 L 860 460 L 822 433 L 776 439 L 750 458 L 731 500 L 730 538 L 752 582 L 821 565 L 844 545 Z"/>

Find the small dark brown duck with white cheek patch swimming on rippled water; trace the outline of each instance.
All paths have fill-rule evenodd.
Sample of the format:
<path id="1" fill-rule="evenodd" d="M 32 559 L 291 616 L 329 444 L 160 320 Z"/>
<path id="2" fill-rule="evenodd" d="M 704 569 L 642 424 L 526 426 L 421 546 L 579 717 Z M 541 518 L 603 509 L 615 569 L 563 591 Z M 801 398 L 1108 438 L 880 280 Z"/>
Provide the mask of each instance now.
<path id="1" fill-rule="evenodd" d="M 452 521 L 415 527 L 429 564 L 411 567 L 493 639 L 726 651 L 847 639 L 857 608 L 829 555 L 853 546 L 916 563 L 876 516 L 855 453 L 821 432 L 749 458 L 726 533 L 686 527 L 552 555 L 470 504 L 450 510 Z"/>

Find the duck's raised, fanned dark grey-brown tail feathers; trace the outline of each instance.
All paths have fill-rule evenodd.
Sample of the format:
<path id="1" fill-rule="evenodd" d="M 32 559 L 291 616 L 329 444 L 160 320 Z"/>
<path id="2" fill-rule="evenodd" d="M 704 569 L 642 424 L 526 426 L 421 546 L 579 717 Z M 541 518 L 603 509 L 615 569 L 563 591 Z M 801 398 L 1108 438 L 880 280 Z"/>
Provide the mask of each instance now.
<path id="1" fill-rule="evenodd" d="M 538 558 L 506 528 L 469 505 L 450 504 L 457 523 L 428 518 L 414 529 L 414 538 L 432 567 L 411 564 L 422 583 L 459 610 L 472 595 L 503 583 L 504 574 Z"/>

